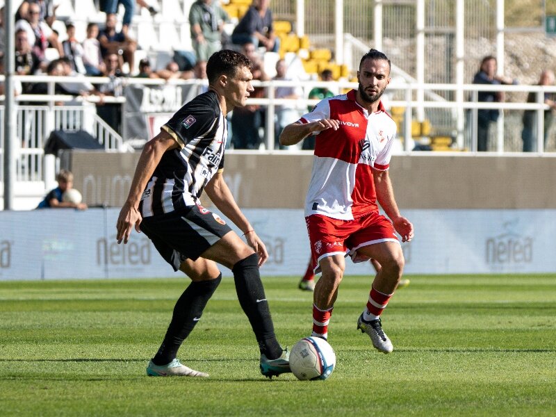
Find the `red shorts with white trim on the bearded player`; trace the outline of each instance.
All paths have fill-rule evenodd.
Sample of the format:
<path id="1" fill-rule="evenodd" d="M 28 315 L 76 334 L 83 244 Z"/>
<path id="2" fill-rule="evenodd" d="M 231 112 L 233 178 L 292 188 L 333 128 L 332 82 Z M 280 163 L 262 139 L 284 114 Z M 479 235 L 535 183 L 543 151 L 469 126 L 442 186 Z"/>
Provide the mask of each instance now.
<path id="1" fill-rule="evenodd" d="M 332 255 L 347 256 L 354 262 L 368 260 L 357 256 L 359 247 L 382 242 L 398 242 L 392 222 L 379 213 L 368 213 L 354 220 L 338 220 L 313 214 L 305 218 L 313 269 L 322 258 Z"/>

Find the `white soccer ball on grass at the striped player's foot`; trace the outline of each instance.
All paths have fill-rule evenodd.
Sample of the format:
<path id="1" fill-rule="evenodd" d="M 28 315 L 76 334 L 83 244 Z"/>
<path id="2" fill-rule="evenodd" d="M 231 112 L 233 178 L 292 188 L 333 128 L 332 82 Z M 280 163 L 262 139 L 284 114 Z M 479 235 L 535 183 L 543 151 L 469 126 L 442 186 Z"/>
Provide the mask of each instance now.
<path id="1" fill-rule="evenodd" d="M 304 337 L 291 348 L 290 368 L 297 379 L 327 379 L 334 366 L 336 354 L 325 339 Z"/>

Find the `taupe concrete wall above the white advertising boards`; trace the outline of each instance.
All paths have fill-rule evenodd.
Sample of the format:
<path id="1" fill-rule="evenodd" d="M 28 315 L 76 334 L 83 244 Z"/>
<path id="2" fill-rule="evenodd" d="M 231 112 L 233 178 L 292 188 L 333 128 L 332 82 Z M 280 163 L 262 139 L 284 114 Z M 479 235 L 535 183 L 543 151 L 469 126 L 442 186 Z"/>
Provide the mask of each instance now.
<path id="1" fill-rule="evenodd" d="M 139 154 L 67 151 L 62 166 L 88 204 L 121 206 Z M 313 156 L 226 154 L 224 175 L 240 207 L 302 208 Z M 393 156 L 400 208 L 556 208 L 556 158 L 539 156 Z M 210 206 L 210 202 L 204 201 Z"/>

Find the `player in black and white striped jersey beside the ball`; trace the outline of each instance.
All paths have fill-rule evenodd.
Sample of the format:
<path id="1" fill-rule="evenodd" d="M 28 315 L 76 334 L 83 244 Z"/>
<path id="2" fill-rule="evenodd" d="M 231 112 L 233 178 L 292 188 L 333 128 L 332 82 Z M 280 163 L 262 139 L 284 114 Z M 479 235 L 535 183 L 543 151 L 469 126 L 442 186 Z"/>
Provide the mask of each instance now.
<path id="1" fill-rule="evenodd" d="M 152 240 L 174 271 L 181 270 L 192 280 L 174 307 L 147 375 L 208 376 L 182 365 L 177 351 L 220 283 L 218 262 L 234 272 L 238 300 L 259 343 L 261 373 L 272 377 L 291 371 L 289 352 L 276 339 L 259 275 L 268 252 L 222 175 L 226 114 L 245 106 L 254 90 L 251 62 L 236 51 L 218 51 L 208 59 L 206 75 L 208 91 L 186 103 L 145 145 L 117 220 L 116 238 L 127 243 L 135 227 Z M 248 245 L 218 214 L 201 206 L 203 190 L 243 231 Z"/>

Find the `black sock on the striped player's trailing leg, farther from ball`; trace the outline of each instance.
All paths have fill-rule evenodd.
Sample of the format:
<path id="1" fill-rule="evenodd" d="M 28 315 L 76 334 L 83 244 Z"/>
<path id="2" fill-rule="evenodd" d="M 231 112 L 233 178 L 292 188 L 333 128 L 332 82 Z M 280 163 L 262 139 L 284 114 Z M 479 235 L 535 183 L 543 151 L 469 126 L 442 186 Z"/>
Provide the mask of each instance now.
<path id="1" fill-rule="evenodd" d="M 155 365 L 166 365 L 176 358 L 181 343 L 201 318 L 204 307 L 222 280 L 222 274 L 208 281 L 193 281 L 174 306 L 174 314 L 166 336 L 152 359 Z"/>

